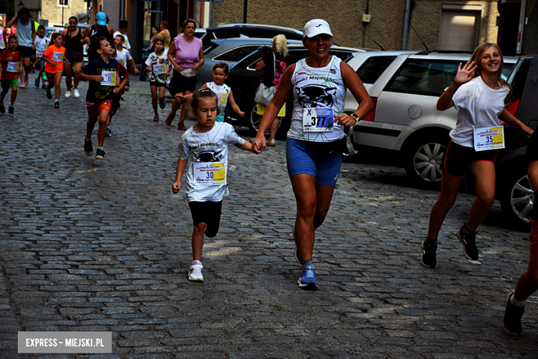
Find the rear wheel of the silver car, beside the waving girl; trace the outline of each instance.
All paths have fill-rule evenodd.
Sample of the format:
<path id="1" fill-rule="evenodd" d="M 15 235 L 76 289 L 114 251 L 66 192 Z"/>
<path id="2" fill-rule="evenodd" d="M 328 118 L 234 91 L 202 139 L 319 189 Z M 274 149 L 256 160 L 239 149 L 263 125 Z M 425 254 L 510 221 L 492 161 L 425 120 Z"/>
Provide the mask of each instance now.
<path id="1" fill-rule="evenodd" d="M 411 139 L 404 151 L 406 173 L 417 184 L 441 183 L 441 161 L 446 150 L 446 136 L 424 134 Z"/>

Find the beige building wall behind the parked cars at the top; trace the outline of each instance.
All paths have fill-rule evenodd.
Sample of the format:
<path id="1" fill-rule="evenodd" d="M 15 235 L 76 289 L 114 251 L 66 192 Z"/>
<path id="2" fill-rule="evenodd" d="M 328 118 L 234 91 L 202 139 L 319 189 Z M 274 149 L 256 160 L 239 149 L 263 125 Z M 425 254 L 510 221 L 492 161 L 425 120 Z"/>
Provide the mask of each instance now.
<path id="1" fill-rule="evenodd" d="M 302 29 L 306 21 L 315 18 L 330 23 L 335 42 L 341 46 L 360 48 L 379 47 L 359 30 L 386 48 L 400 50 L 403 35 L 405 0 L 370 0 L 370 23 L 362 23 L 366 0 L 271 0 L 248 1 L 248 22 Z M 415 0 L 411 24 L 428 48 L 437 48 L 439 15 L 443 3 L 481 5 L 482 11 L 480 42 L 497 42 L 497 0 Z M 243 20 L 243 0 L 226 0 L 213 4 L 213 24 Z M 415 32 L 409 28 L 408 49 L 424 50 Z"/>

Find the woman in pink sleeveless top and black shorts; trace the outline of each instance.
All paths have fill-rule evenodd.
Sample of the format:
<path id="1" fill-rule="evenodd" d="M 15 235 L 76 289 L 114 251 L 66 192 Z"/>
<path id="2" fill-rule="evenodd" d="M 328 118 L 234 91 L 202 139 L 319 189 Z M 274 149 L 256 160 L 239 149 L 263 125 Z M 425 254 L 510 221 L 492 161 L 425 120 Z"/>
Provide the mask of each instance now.
<path id="1" fill-rule="evenodd" d="M 203 57 L 203 46 L 201 39 L 195 37 L 196 23 L 192 19 L 186 19 L 183 23 L 185 33 L 178 36 L 170 43 L 168 48 L 168 59 L 174 67 L 173 77 L 170 80 L 170 93 L 174 95 L 189 95 L 196 89 L 197 70 L 206 61 Z M 172 102 L 172 112 L 166 117 L 166 124 L 170 126 L 176 116 L 176 111 L 183 103 L 183 100 L 174 99 Z M 186 115 L 188 106 L 181 108 L 181 113 Z M 185 118 L 186 116 L 181 116 Z M 178 130 L 186 130 L 183 122 L 179 122 Z"/>

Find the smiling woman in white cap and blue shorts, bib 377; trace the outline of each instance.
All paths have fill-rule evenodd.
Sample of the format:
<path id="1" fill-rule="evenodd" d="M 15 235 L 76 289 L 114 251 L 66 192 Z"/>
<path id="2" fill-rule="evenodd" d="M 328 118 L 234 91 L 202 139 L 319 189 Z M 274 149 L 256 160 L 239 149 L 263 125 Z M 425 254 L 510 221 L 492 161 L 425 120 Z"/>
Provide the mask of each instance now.
<path id="1" fill-rule="evenodd" d="M 340 172 L 343 128 L 353 126 L 372 110 L 372 101 L 357 73 L 338 57 L 330 55 L 332 32 L 321 19 L 308 21 L 303 29 L 308 57 L 284 72 L 275 96 L 263 114 L 256 136 L 257 150 L 266 147 L 265 133 L 279 109 L 293 94 L 292 124 L 286 141 L 288 175 L 297 201 L 293 227 L 295 259 L 303 265 L 302 289 L 317 289 L 312 251 L 317 229 L 328 213 Z M 343 113 L 346 89 L 359 108 Z"/>

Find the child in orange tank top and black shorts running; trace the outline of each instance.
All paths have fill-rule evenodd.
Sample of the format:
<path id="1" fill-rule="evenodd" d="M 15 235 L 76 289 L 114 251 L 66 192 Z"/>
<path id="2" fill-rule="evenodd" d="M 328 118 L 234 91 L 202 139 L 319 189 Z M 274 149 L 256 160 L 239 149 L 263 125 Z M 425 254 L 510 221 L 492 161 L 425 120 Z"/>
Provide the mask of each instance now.
<path id="1" fill-rule="evenodd" d="M 63 37 L 61 32 L 54 32 L 52 34 L 52 45 L 50 45 L 45 52 L 43 52 L 43 61 L 45 61 L 45 73 L 48 79 L 48 85 L 45 89 L 48 99 L 52 99 L 52 93 L 50 89 L 54 87 L 54 108 L 60 108 L 60 83 L 63 72 L 63 57 L 66 54 L 66 48 L 61 46 Z"/>

